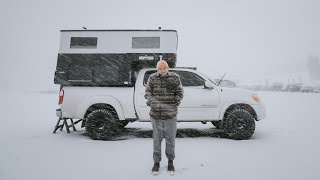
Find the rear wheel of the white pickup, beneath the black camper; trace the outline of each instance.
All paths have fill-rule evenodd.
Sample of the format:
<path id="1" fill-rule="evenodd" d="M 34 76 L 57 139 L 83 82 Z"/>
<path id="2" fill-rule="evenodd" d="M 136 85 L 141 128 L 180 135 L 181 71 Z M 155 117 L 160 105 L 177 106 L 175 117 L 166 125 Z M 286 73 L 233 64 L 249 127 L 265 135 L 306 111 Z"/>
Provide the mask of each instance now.
<path id="1" fill-rule="evenodd" d="M 107 109 L 92 111 L 86 120 L 86 131 L 94 140 L 111 140 L 121 135 L 119 120 Z"/>

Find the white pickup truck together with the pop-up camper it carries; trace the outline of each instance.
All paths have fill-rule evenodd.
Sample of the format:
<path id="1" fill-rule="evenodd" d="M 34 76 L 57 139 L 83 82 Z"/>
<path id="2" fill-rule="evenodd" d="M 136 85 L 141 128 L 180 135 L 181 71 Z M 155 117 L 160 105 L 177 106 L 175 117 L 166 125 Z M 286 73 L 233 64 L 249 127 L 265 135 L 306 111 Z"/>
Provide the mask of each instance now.
<path id="1" fill-rule="evenodd" d="M 227 81 L 212 80 L 196 68 L 177 67 L 177 49 L 178 33 L 170 29 L 61 30 L 55 131 L 61 119 L 69 127 L 65 120 L 74 125 L 72 119 L 78 118 L 92 139 L 107 140 L 129 122 L 150 121 L 145 85 L 164 59 L 184 89 L 177 121 L 211 122 L 228 138 L 250 138 L 255 121 L 266 116 L 258 95 L 224 87 Z"/>

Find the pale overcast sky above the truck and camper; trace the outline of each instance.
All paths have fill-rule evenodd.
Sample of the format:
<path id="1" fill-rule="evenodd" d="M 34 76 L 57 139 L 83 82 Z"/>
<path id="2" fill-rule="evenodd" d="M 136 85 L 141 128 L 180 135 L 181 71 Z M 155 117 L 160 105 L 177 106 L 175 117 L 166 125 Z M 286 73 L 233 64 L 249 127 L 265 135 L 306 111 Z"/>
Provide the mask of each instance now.
<path id="1" fill-rule="evenodd" d="M 178 66 L 264 79 L 320 56 L 318 0 L 0 1 L 1 89 L 54 88 L 61 29 L 175 29 Z"/>

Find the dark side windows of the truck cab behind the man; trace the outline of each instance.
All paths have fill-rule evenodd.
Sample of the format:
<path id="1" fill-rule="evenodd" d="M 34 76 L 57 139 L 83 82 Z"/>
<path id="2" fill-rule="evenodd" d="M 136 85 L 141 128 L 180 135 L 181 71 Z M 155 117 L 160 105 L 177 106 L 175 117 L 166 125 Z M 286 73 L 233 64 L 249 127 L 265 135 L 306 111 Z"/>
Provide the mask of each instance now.
<path id="1" fill-rule="evenodd" d="M 177 70 L 169 70 L 170 72 L 177 73 L 180 76 L 182 86 L 203 86 L 205 80 L 197 75 L 196 73 L 189 71 L 177 71 Z M 149 79 L 149 76 L 153 73 L 157 72 L 156 70 L 147 71 L 143 78 L 143 85 L 146 85 Z"/>

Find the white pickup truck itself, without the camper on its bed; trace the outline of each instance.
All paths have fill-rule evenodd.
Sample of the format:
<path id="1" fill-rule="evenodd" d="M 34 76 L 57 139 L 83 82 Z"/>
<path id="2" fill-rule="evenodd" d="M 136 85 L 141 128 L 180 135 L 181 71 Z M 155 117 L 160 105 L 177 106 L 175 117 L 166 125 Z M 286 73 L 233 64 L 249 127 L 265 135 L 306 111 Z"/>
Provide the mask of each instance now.
<path id="1" fill-rule="evenodd" d="M 211 122 L 231 139 L 249 139 L 255 121 L 266 117 L 259 96 L 249 90 L 221 87 L 193 68 L 170 68 L 180 76 L 184 98 L 178 108 L 178 122 Z M 132 87 L 65 86 L 59 95 L 58 117 L 83 119 L 92 139 L 105 139 L 129 122 L 150 121 L 145 86 L 155 68 L 143 68 Z"/>

